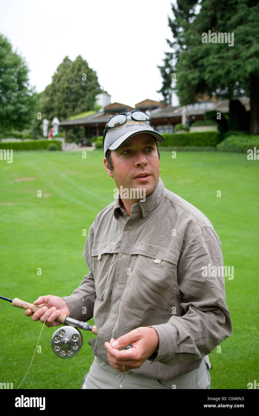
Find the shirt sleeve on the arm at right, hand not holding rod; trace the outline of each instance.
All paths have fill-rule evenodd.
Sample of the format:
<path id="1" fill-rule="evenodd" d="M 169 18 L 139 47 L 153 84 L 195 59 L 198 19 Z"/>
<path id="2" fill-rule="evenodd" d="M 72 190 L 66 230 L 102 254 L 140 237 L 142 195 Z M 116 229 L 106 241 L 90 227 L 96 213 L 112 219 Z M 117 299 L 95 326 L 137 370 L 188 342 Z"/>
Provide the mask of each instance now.
<path id="1" fill-rule="evenodd" d="M 178 264 L 182 316 L 172 315 L 167 323 L 150 326 L 159 337 L 153 362 L 172 365 L 202 360 L 231 335 L 222 270 L 220 239 L 211 227 L 203 227 L 187 243 Z"/>

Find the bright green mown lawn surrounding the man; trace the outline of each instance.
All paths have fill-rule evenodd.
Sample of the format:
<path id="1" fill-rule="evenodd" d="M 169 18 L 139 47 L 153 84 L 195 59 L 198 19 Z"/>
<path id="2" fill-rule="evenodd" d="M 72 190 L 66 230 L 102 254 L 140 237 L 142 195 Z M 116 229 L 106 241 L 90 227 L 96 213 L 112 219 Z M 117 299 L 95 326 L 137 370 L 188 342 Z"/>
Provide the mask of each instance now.
<path id="1" fill-rule="evenodd" d="M 234 279 L 225 277 L 233 332 L 221 352 L 215 349 L 209 356 L 211 388 L 247 389 L 247 383 L 259 381 L 259 161 L 221 152 L 177 152 L 175 159 L 170 152 L 160 154 L 165 187 L 207 215 L 222 242 L 224 265 L 234 266 Z M 113 201 L 115 184 L 104 168 L 103 152 L 89 151 L 83 159 L 81 152 L 16 151 L 13 163 L 0 161 L 0 181 L 0 295 L 27 302 L 39 295 L 70 295 L 89 270 L 82 230 L 88 231 Z M 0 300 L 0 382 L 18 387 L 41 327 Z M 36 352 L 21 388 L 79 389 L 94 359 L 87 343 L 93 336 L 82 331 L 83 347 L 69 360 L 52 352 L 53 332 L 44 327 L 42 352 Z"/>

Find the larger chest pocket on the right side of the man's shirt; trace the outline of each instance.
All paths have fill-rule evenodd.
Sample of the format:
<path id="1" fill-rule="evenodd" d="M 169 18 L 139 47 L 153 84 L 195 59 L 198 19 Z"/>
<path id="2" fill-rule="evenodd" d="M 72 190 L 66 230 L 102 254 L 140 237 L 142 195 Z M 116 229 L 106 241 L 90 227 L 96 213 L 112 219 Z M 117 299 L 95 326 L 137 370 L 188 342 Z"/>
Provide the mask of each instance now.
<path id="1" fill-rule="evenodd" d="M 181 315 L 177 282 L 179 250 L 150 243 L 134 245 L 131 251 L 131 275 L 127 280 L 126 303 L 138 310 L 164 310 Z"/>

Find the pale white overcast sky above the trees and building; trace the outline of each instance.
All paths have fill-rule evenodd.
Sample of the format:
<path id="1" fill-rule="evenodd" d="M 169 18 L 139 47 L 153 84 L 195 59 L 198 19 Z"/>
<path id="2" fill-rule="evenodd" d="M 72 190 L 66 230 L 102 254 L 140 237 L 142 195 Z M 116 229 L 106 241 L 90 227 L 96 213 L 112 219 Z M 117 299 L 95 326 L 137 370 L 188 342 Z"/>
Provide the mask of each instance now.
<path id="1" fill-rule="evenodd" d="M 111 102 L 134 107 L 163 98 L 157 65 L 170 51 L 168 14 L 170 0 L 0 0 L 0 33 L 25 59 L 37 92 L 66 55 L 80 54 Z"/>

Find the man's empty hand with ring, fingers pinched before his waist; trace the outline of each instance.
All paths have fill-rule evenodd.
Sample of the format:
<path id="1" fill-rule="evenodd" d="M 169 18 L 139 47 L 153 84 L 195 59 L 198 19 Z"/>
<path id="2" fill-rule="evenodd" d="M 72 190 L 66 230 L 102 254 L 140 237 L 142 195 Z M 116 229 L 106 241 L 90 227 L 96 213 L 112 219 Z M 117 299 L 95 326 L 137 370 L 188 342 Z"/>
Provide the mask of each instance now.
<path id="1" fill-rule="evenodd" d="M 158 349 L 159 337 L 154 328 L 139 327 L 116 340 L 112 338 L 104 345 L 110 365 L 117 371 L 123 372 L 139 368 Z M 118 350 L 127 346 L 128 349 Z"/>

